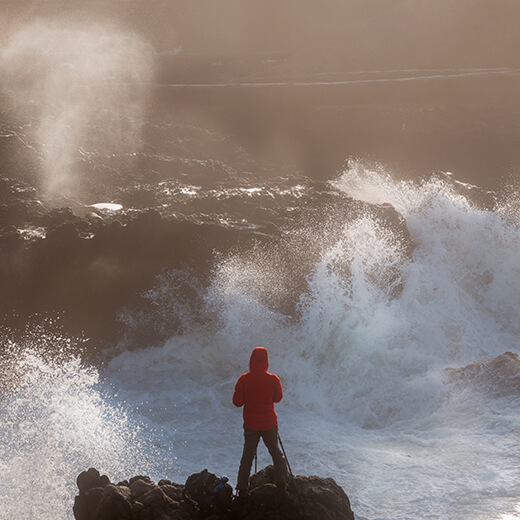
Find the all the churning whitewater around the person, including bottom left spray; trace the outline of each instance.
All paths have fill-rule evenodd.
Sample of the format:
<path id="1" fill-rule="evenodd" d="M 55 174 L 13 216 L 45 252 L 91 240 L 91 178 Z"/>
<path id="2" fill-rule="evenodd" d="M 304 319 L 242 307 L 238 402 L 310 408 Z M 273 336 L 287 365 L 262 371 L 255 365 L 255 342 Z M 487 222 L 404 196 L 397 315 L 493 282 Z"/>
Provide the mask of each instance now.
<path id="1" fill-rule="evenodd" d="M 9 345 L 0 518 L 72 519 L 76 476 L 91 466 L 116 482 L 182 483 L 208 468 L 234 485 L 242 420 L 231 396 L 257 345 L 284 386 L 293 472 L 333 477 L 356 518 L 520 518 L 516 192 L 484 204 L 450 175 L 397 180 L 362 161 L 329 188 L 365 210 L 329 205 L 286 230 L 287 249 L 316 253 L 293 315 L 268 304 L 283 277 L 260 248 L 217 258 L 208 286 L 187 271 L 158 278 L 150 314 L 182 322 L 164 343 L 114 345 L 99 364 L 59 334 Z M 401 227 L 374 211 L 388 205 Z M 122 320 L 138 329 L 139 317 Z M 270 463 L 266 450 L 258 463 Z"/>

